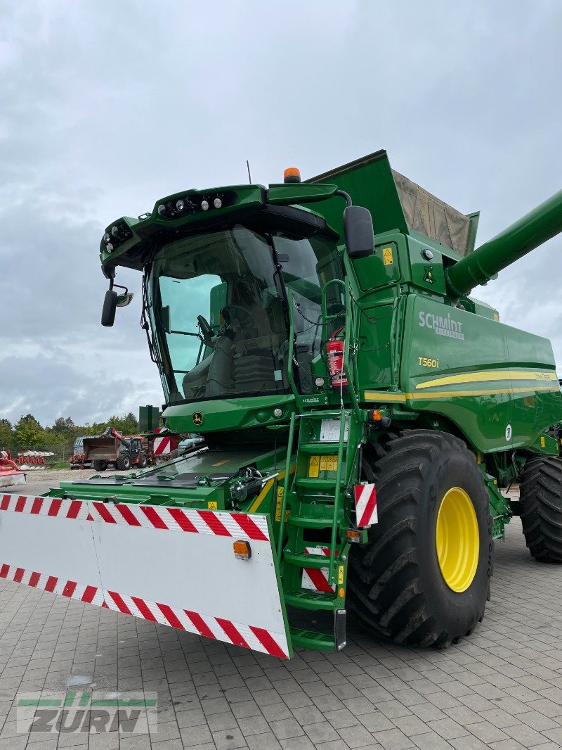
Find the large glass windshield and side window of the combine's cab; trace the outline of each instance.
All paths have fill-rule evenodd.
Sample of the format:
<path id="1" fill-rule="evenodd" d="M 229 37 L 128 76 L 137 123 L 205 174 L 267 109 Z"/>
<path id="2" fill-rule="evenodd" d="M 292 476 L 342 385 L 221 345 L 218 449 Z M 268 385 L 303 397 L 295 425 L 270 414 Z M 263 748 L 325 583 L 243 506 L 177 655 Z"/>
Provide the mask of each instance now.
<path id="1" fill-rule="evenodd" d="M 146 291 L 168 403 L 290 392 L 286 286 L 294 289 L 295 380 L 310 392 L 321 284 L 334 273 L 333 242 L 241 224 L 164 245 Z"/>

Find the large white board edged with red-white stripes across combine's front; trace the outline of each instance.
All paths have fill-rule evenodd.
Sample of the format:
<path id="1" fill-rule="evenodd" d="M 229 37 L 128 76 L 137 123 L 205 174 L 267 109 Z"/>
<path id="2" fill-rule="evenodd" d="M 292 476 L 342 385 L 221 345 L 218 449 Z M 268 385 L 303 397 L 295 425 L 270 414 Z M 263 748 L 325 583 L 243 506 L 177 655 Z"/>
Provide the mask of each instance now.
<path id="1" fill-rule="evenodd" d="M 0 498 L 0 577 L 290 657 L 267 516 Z M 250 542 L 247 561 L 235 558 L 238 540 Z"/>

